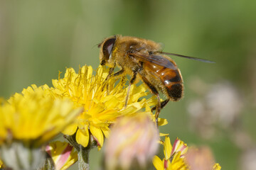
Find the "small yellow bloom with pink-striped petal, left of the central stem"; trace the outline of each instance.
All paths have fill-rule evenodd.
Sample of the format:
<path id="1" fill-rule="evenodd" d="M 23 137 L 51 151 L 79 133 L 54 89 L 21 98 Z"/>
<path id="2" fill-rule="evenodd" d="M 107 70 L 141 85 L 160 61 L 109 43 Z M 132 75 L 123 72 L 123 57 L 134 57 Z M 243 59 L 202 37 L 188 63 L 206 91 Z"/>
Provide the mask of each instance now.
<path id="1" fill-rule="evenodd" d="M 56 170 L 68 169 L 78 161 L 78 152 L 67 142 L 50 142 L 46 147 L 46 152 L 53 159 Z"/>

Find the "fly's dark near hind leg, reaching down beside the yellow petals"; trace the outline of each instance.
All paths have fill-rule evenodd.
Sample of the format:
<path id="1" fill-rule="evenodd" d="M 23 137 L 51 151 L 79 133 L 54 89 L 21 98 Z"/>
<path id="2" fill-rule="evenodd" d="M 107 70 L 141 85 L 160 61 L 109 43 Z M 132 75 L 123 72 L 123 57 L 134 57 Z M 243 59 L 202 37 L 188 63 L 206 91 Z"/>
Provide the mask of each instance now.
<path id="1" fill-rule="evenodd" d="M 149 82 L 148 79 L 146 79 L 146 77 L 143 77 L 142 76 L 142 81 L 146 84 L 146 86 L 149 86 L 149 89 L 152 91 L 153 94 L 156 95 L 157 97 L 157 103 L 156 103 L 156 106 L 154 107 L 156 110 L 156 114 L 155 114 L 155 118 L 156 118 L 156 127 L 159 126 L 159 123 L 158 123 L 158 118 L 159 118 L 159 113 L 160 113 L 160 110 L 161 110 L 161 101 L 160 101 L 160 96 L 159 96 L 159 92 L 156 90 L 156 87 L 153 86 L 153 84 L 151 84 Z M 153 109 L 153 108 L 152 108 Z"/>

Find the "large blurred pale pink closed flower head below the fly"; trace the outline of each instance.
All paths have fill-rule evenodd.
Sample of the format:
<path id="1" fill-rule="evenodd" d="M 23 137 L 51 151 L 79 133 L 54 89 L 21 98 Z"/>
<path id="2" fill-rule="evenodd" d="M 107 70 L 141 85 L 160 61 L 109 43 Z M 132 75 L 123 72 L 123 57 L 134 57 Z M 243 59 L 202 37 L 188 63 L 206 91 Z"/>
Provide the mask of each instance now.
<path id="1" fill-rule="evenodd" d="M 159 132 L 146 113 L 117 119 L 105 147 L 107 169 L 144 167 L 156 153 Z"/>

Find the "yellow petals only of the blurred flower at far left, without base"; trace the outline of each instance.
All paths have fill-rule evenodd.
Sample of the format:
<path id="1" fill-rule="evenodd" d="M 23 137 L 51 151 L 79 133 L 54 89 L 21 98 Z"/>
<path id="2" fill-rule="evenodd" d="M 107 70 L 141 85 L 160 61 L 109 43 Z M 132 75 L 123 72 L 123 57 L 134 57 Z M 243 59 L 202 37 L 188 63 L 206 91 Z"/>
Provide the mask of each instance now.
<path id="1" fill-rule="evenodd" d="M 81 109 L 74 110 L 68 99 L 53 98 L 48 86 L 28 87 L 0 106 L 0 143 L 21 140 L 38 147 L 75 120 Z"/>

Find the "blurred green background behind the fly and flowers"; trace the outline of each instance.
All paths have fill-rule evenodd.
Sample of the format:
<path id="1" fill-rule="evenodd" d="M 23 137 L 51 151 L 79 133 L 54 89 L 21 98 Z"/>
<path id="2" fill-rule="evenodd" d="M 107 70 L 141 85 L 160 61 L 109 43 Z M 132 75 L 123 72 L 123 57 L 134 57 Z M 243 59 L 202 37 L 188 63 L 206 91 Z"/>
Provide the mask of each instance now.
<path id="1" fill-rule="evenodd" d="M 172 142 L 208 145 L 223 169 L 256 169 L 256 1 L 1 0 L 0 96 L 51 86 L 65 67 L 97 68 L 97 43 L 114 34 L 215 61 L 172 57 L 185 95 L 163 109 L 169 124 L 160 130 Z M 101 153 L 92 151 L 91 169 Z"/>

